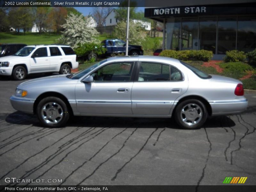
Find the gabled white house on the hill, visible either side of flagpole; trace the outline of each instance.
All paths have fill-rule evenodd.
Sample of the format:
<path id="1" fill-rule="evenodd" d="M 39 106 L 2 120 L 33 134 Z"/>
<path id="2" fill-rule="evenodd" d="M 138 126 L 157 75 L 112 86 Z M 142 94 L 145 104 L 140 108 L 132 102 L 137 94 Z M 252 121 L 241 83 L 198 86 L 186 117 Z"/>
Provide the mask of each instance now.
<path id="1" fill-rule="evenodd" d="M 108 16 L 106 17 L 105 26 L 116 25 L 118 20 L 116 17 L 116 10 L 113 9 Z M 141 23 L 141 27 L 145 28 L 146 30 L 151 30 L 151 23 L 143 20 L 132 20 L 134 23 Z"/>

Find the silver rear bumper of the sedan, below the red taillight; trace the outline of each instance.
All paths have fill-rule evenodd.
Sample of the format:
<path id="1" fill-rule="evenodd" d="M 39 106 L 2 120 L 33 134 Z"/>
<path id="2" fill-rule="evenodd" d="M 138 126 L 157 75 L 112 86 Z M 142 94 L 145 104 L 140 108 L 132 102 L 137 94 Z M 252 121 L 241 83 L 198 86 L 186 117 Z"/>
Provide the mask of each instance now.
<path id="1" fill-rule="evenodd" d="M 227 100 L 227 101 L 210 101 L 212 107 L 212 116 L 231 115 L 241 113 L 246 110 L 248 100 Z"/>

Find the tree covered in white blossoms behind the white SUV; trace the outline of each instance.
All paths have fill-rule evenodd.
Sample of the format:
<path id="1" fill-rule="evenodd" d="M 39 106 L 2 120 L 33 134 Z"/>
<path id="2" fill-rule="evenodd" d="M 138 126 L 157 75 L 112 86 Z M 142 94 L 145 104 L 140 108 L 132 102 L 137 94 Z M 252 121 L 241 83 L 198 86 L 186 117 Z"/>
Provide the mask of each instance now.
<path id="1" fill-rule="evenodd" d="M 90 26 L 90 17 L 84 18 L 83 15 L 71 12 L 62 27 L 65 30 L 59 39 L 61 43 L 76 48 L 79 44 L 97 42 L 95 36 L 99 35 L 99 32 Z"/>

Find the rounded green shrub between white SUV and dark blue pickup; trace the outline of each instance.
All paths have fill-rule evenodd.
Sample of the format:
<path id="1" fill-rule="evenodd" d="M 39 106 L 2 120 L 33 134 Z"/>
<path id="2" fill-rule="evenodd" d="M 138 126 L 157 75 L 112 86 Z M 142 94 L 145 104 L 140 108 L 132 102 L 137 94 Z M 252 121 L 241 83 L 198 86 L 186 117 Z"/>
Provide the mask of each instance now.
<path id="1" fill-rule="evenodd" d="M 99 43 L 86 43 L 80 44 L 77 48 L 75 48 L 76 55 L 78 57 L 87 57 L 90 53 L 95 53 L 97 55 L 101 55 L 106 52 L 106 48 L 102 47 L 102 44 Z"/>

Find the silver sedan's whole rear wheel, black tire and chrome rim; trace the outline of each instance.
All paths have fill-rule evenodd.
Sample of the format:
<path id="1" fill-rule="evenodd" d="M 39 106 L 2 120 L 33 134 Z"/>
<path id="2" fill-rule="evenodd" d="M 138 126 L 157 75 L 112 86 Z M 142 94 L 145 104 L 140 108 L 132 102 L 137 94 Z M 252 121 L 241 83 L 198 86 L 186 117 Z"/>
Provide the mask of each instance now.
<path id="1" fill-rule="evenodd" d="M 198 129 L 204 124 L 208 113 L 203 102 L 196 99 L 182 101 L 175 110 L 175 121 L 184 129 Z"/>

